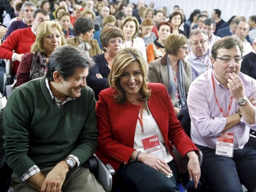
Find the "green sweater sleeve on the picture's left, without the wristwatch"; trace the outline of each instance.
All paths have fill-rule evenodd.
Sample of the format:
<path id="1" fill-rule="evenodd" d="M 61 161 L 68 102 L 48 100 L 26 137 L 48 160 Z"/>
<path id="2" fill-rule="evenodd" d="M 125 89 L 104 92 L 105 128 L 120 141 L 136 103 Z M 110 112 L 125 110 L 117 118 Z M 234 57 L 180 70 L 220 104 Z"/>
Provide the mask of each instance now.
<path id="1" fill-rule="evenodd" d="M 30 116 L 21 88 L 15 88 L 4 109 L 4 152 L 7 164 L 22 176 L 35 163 L 28 157 Z"/>

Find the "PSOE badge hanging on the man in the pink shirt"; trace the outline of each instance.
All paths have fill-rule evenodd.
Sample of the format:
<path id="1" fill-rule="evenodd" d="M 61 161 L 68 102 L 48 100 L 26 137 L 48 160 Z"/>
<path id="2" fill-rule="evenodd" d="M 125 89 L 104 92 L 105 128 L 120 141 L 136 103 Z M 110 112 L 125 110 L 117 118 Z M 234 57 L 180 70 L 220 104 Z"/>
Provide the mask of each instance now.
<path id="1" fill-rule="evenodd" d="M 224 132 L 217 138 L 215 155 L 233 157 L 234 133 Z"/>

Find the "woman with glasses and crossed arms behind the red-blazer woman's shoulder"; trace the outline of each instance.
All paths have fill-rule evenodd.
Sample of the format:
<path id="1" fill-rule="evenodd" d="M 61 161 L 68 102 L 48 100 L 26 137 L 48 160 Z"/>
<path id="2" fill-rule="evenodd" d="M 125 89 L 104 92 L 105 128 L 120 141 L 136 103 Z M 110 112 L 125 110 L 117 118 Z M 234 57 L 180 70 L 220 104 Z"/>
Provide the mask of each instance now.
<path id="1" fill-rule="evenodd" d="M 108 75 L 112 68 L 114 56 L 121 49 L 124 36 L 118 27 L 106 26 L 102 29 L 100 40 L 105 53 L 93 56 L 95 65 L 89 69 L 89 75 L 86 77 L 87 85 L 93 89 L 96 100 L 98 100 L 99 92 L 109 87 Z"/>

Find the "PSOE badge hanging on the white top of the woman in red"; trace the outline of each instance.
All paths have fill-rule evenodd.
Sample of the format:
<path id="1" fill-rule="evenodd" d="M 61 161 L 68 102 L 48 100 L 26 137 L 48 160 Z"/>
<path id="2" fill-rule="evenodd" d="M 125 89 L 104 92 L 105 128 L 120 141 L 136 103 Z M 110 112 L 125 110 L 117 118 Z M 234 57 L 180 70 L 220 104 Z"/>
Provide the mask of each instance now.
<path id="1" fill-rule="evenodd" d="M 163 152 L 161 150 L 156 132 L 153 132 L 146 136 L 146 138 L 142 139 L 142 144 L 146 154 L 157 156 L 158 158 L 163 159 Z"/>

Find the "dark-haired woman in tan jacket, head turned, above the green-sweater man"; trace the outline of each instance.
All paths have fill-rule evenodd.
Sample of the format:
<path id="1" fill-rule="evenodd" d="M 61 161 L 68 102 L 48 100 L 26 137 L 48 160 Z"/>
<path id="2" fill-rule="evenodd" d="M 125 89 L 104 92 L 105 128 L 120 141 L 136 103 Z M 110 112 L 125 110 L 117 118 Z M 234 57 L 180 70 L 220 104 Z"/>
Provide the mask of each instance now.
<path id="1" fill-rule="evenodd" d="M 68 39 L 72 44 L 84 50 L 87 56 L 95 56 L 101 53 L 98 41 L 93 39 L 94 24 L 89 18 L 80 17 L 75 21 L 74 34 L 76 37 Z"/>

